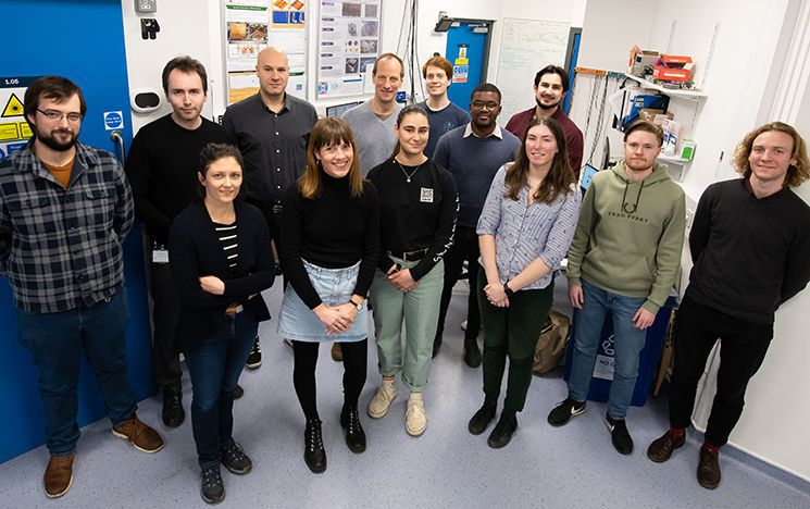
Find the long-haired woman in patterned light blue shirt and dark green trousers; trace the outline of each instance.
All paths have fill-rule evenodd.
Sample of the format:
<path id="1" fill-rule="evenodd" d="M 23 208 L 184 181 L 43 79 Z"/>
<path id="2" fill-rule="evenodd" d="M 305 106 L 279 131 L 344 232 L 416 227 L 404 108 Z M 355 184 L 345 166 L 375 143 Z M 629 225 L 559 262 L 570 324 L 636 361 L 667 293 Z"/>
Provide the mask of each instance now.
<path id="1" fill-rule="evenodd" d="M 574 237 L 580 193 L 560 124 L 532 121 L 513 163 L 498 170 L 478 220 L 478 306 L 484 326 L 484 406 L 473 435 L 495 419 L 509 357 L 507 396 L 487 444 L 509 444 L 532 383 L 534 348 L 548 319 L 553 271 Z"/>

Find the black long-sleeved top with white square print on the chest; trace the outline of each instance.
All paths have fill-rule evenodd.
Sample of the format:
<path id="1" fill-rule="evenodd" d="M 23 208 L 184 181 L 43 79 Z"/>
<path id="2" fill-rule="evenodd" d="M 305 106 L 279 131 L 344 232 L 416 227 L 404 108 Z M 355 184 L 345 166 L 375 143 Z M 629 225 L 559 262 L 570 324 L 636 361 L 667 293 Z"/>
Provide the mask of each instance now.
<path id="1" fill-rule="evenodd" d="M 427 249 L 411 269 L 411 277 L 419 281 L 452 245 L 459 210 L 452 175 L 429 159 L 420 166 L 400 167 L 391 158 L 369 172 L 369 179 L 379 194 L 377 266 L 387 272 L 394 265 L 387 251 L 402 253 Z"/>

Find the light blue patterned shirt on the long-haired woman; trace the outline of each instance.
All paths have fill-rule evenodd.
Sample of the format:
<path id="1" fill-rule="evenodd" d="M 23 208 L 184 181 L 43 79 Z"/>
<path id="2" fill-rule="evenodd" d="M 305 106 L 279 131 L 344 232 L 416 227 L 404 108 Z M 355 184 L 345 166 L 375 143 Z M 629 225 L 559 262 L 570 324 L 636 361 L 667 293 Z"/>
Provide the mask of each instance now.
<path id="1" fill-rule="evenodd" d="M 540 289 L 551 284 L 553 271 L 569 250 L 580 216 L 580 191 L 560 194 L 551 203 L 528 204 L 528 188 L 518 200 L 507 198 L 507 163 L 498 170 L 478 219 L 478 235 L 495 236 L 495 260 L 501 283 L 514 278 L 539 258 L 551 272 L 522 289 Z"/>

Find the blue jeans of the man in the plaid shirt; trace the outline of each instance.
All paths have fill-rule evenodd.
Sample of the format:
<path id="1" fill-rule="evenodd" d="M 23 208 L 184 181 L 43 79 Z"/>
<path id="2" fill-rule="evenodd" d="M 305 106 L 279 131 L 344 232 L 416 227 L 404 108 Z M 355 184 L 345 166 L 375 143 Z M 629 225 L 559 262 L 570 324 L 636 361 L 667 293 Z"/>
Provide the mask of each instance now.
<path id="1" fill-rule="evenodd" d="M 78 372 L 84 350 L 96 374 L 107 414 L 113 426 L 135 410 L 126 363 L 126 290 L 109 300 L 59 313 L 28 313 L 20 309 L 20 343 L 32 352 L 39 371 L 39 398 L 45 412 L 48 450 L 67 456 L 76 450 L 79 431 Z"/>

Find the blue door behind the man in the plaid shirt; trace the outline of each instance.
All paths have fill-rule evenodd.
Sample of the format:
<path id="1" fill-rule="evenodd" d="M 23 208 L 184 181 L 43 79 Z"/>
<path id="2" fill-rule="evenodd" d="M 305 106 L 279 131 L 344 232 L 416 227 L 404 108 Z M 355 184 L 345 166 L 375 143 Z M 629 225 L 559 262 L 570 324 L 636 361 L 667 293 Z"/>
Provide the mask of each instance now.
<path id="1" fill-rule="evenodd" d="M 119 131 L 128 145 L 132 121 L 121 0 L 12 0 L 4 1 L 2 10 L 7 47 L 0 61 L 0 78 L 52 74 L 71 78 L 87 101 L 82 141 L 116 153 L 103 119 L 104 112 L 111 113 L 108 120 L 121 112 L 123 126 Z M 32 36 L 34 26 L 36 37 Z M 134 228 L 124 245 L 124 260 L 129 301 L 129 381 L 137 399 L 154 393 L 141 252 L 140 228 Z M 43 444 L 46 437 L 37 371 L 17 340 L 11 289 L 3 277 L 0 320 L 0 461 L 5 461 Z M 103 415 L 104 405 L 95 377 L 83 362 L 78 424 Z"/>

